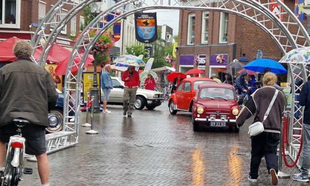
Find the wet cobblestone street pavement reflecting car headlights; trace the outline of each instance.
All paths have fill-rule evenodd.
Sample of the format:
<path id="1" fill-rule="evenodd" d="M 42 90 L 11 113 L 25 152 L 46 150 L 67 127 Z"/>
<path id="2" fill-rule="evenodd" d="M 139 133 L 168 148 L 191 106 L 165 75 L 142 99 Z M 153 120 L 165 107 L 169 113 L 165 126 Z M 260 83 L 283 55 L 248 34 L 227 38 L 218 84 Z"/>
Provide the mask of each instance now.
<path id="1" fill-rule="evenodd" d="M 134 110 L 123 117 L 121 106 L 112 114 L 95 114 L 98 135 L 81 128 L 80 144 L 50 154 L 51 186 L 268 186 L 265 161 L 256 184 L 247 181 L 250 138 L 246 123 L 240 133 L 228 130 L 193 132 L 190 113 L 170 115 L 167 103 L 155 110 Z M 85 113 L 82 122 L 85 123 Z M 36 163 L 33 175 L 20 186 L 40 186 Z M 283 172 L 293 175 L 297 168 Z M 292 179 L 279 185 L 306 186 Z"/>

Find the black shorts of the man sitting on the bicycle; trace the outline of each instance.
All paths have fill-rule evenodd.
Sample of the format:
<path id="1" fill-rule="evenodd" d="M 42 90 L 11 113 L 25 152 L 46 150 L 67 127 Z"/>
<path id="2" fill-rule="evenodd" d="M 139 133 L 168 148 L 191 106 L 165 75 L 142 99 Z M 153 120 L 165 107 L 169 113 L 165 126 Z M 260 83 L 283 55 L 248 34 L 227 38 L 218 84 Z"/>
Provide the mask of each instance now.
<path id="1" fill-rule="evenodd" d="M 9 124 L 0 127 L 0 141 L 8 142 L 10 136 L 17 134 L 17 127 Z M 22 128 L 22 137 L 25 141 L 25 153 L 29 155 L 40 155 L 46 152 L 45 127 L 37 125 L 26 125 Z"/>

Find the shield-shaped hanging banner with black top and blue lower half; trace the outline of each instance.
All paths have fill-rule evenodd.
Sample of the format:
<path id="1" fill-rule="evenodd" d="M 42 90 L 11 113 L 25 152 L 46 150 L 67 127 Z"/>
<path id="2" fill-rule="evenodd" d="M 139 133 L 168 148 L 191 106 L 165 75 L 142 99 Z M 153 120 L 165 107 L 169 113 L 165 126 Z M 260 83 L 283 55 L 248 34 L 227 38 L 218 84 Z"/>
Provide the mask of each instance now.
<path id="1" fill-rule="evenodd" d="M 141 43 L 157 40 L 156 13 L 135 13 L 135 39 Z"/>

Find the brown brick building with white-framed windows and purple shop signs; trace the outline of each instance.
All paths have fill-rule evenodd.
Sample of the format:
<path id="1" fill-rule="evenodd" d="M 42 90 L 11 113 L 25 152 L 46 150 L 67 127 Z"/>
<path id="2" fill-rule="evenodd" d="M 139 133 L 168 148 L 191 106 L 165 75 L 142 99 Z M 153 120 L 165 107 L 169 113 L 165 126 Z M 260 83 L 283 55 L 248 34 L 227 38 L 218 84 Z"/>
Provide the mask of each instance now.
<path id="1" fill-rule="evenodd" d="M 284 3 L 294 10 L 295 0 L 284 0 Z M 254 23 L 216 11 L 180 10 L 178 45 L 177 71 L 185 73 L 196 68 L 195 61 L 199 60 L 198 68 L 205 70 L 207 77 L 217 74 L 221 79 L 227 62 L 233 59 L 250 62 L 256 59 L 259 49 L 264 58 L 282 57 L 275 42 Z"/>

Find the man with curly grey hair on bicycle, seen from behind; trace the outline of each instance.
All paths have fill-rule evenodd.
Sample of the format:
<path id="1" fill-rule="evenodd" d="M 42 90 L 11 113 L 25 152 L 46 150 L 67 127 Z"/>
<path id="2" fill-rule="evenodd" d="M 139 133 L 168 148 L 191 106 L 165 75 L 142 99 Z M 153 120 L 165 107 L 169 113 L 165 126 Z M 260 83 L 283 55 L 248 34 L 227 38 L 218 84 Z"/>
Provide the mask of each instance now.
<path id="1" fill-rule="evenodd" d="M 45 128 L 58 93 L 49 72 L 30 59 L 33 51 L 29 42 L 18 41 L 14 47 L 17 60 L 0 69 L 0 167 L 6 155 L 5 145 L 17 130 L 11 121 L 28 120 L 30 124 L 22 128 L 26 153 L 36 156 L 41 184 L 48 186 Z"/>

